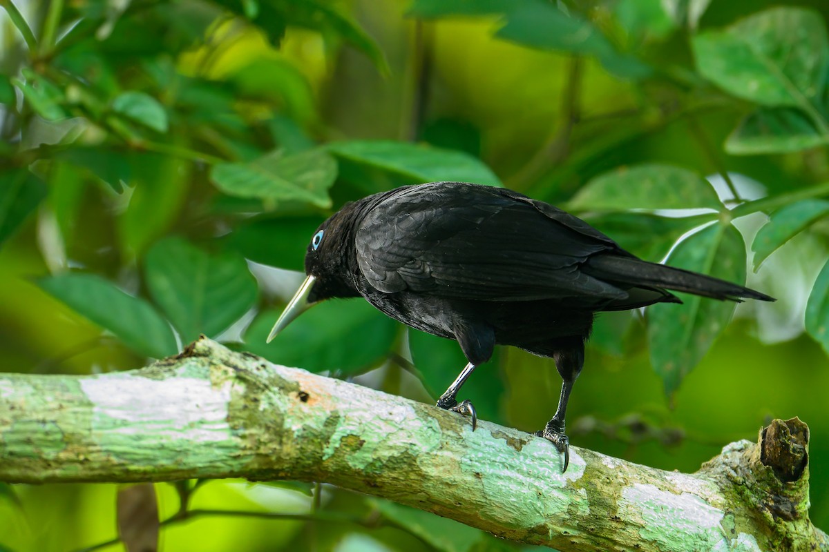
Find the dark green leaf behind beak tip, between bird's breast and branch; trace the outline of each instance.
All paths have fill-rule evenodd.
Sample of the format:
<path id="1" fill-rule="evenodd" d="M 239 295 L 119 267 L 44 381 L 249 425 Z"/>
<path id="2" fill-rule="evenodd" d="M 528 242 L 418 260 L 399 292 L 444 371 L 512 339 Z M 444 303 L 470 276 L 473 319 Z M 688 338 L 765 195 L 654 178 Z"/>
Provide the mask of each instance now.
<path id="1" fill-rule="evenodd" d="M 398 324 L 365 300 L 329 300 L 315 305 L 265 344 L 279 312 L 269 311 L 250 325 L 245 348 L 285 366 L 344 374 L 375 367 L 389 353 Z"/>

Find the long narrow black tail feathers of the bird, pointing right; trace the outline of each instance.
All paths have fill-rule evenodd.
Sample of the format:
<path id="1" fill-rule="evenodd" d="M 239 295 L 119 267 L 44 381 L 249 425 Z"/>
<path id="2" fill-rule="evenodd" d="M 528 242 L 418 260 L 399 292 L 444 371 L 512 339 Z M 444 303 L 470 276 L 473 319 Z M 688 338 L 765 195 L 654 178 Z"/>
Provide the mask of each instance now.
<path id="1" fill-rule="evenodd" d="M 773 301 L 759 291 L 749 290 L 729 281 L 697 272 L 686 271 L 673 266 L 642 261 L 636 257 L 618 255 L 597 255 L 590 257 L 585 266 L 590 276 L 604 281 L 615 281 L 633 286 L 652 286 L 667 290 L 685 291 L 719 300 L 740 302 L 742 299 Z"/>

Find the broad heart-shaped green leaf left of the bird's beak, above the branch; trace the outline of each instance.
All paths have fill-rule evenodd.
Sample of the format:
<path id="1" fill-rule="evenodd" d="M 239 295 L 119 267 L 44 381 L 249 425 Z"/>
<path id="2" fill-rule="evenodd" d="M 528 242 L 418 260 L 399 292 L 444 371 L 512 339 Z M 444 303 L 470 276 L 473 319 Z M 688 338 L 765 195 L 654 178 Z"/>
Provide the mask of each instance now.
<path id="1" fill-rule="evenodd" d="M 216 337 L 256 303 L 256 281 L 243 257 L 211 255 L 182 238 L 150 248 L 144 275 L 153 301 L 185 343 L 199 334 Z"/>

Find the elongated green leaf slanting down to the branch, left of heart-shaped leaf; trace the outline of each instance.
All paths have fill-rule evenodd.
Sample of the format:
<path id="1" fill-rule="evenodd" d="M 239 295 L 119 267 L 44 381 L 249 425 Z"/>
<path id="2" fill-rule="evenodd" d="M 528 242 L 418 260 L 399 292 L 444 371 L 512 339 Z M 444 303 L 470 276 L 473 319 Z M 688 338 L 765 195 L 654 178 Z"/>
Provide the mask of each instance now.
<path id="1" fill-rule="evenodd" d="M 100 276 L 72 272 L 41 278 L 38 284 L 136 353 L 162 358 L 177 351 L 170 324 L 147 301 L 124 293 Z"/>

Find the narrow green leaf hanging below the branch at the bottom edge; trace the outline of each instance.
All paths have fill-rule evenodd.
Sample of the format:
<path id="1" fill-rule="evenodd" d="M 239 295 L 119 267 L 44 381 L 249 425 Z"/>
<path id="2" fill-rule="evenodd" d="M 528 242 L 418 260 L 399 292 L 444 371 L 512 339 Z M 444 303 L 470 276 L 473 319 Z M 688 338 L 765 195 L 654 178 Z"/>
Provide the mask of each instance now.
<path id="1" fill-rule="evenodd" d="M 417 535 L 441 552 L 469 552 L 476 548 L 486 535 L 482 530 L 465 526 L 460 521 L 417 510 L 411 506 L 385 500 L 371 502 L 374 502 L 376 509 L 385 519 L 396 526 L 404 527 L 412 535 Z"/>

